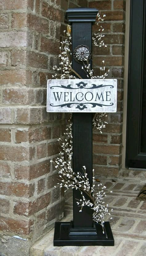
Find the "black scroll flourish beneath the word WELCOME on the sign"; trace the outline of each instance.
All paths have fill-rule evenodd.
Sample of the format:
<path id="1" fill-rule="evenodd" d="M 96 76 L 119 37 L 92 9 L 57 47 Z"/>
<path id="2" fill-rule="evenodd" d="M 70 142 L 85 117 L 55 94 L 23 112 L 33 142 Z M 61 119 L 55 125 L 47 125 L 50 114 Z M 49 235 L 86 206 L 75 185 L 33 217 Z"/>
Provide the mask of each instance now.
<path id="1" fill-rule="evenodd" d="M 54 106 L 54 104 L 51 103 L 50 106 L 51 107 L 61 107 L 61 108 L 67 106 L 67 108 L 71 108 L 71 105 L 73 105 L 73 104 L 77 104 L 76 109 L 79 109 L 79 110 L 87 109 L 86 104 L 91 104 L 92 105 L 91 108 L 95 108 L 96 106 L 99 106 L 99 107 L 107 106 L 107 107 L 109 107 L 109 106 L 114 105 L 114 103 L 112 103 L 112 102 L 110 103 L 110 105 L 104 105 L 104 104 L 99 104 L 99 103 L 94 103 L 94 102 L 93 103 L 92 102 L 87 102 L 87 103 L 65 103 L 65 104 L 56 105 L 56 106 Z"/>

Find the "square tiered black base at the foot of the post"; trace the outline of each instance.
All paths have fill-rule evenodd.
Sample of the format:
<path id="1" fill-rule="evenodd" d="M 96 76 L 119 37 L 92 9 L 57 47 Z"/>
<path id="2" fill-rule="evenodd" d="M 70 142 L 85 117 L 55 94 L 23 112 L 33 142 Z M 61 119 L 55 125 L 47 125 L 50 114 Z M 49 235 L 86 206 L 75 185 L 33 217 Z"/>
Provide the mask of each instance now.
<path id="1" fill-rule="evenodd" d="M 94 223 L 93 228 L 73 228 L 72 222 L 55 222 L 54 246 L 113 246 L 109 221 L 104 223 L 104 234 L 100 224 Z"/>

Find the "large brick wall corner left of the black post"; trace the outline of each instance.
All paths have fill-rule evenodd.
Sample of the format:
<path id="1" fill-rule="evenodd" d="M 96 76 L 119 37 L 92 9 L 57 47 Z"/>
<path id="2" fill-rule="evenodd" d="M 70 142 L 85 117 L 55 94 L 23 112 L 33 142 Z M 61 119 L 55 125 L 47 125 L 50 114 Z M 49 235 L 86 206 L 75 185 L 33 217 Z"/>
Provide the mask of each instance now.
<path id="1" fill-rule="evenodd" d="M 67 115 L 46 112 L 46 87 L 64 12 L 80 5 L 87 1 L 0 0 L 0 254 L 29 255 L 30 242 L 63 216 L 50 159 Z"/>

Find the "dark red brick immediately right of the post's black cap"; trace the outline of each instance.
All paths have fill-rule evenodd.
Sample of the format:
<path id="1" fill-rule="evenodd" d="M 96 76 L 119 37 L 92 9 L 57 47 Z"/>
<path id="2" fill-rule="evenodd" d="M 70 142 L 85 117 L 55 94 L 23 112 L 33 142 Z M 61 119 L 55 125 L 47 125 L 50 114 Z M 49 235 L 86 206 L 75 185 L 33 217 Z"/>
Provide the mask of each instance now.
<path id="1" fill-rule="evenodd" d="M 124 19 L 124 11 L 104 11 L 101 14 L 105 14 L 105 21 L 108 20 L 123 20 Z"/>

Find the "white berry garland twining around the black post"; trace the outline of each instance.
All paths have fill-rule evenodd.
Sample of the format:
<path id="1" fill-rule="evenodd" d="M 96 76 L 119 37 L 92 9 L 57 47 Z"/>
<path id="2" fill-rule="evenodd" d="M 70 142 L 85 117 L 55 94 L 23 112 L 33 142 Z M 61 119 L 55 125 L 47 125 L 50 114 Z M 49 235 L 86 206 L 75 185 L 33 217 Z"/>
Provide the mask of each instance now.
<path id="1" fill-rule="evenodd" d="M 96 24 L 99 27 L 98 33 L 95 33 L 92 36 L 92 42 L 93 45 L 99 46 L 99 47 L 106 47 L 104 45 L 104 42 L 102 38 L 104 35 L 101 34 L 103 32 L 102 26 L 99 26 L 99 21 L 103 21 L 103 15 L 102 17 L 100 14 L 97 15 Z M 65 30 L 64 30 L 64 41 L 61 42 L 60 46 L 60 60 L 59 67 L 54 66 L 53 70 L 58 71 L 57 74 L 52 75 L 55 79 L 82 79 L 82 77 L 72 68 L 71 63 L 71 26 L 67 26 L 67 33 L 65 36 Z M 93 69 L 91 70 L 90 64 L 88 62 L 89 54 L 86 50 L 84 50 L 84 46 L 82 47 L 82 60 L 81 58 L 78 58 L 78 54 L 76 54 L 75 58 L 78 58 L 80 63 L 83 64 L 82 69 L 87 74 L 87 78 L 89 79 L 105 79 L 107 76 L 107 73 L 109 70 L 106 70 L 105 66 L 100 67 L 100 75 L 95 75 Z M 77 51 L 76 51 L 77 52 Z M 78 51 L 79 53 L 79 51 Z M 104 65 L 104 61 L 102 62 Z M 105 128 L 105 124 L 107 122 L 103 121 L 103 118 L 105 118 L 107 115 L 106 113 L 95 113 L 93 117 L 93 129 L 98 129 L 100 133 L 102 133 L 102 129 Z M 70 120 L 71 121 L 71 118 Z M 65 188 L 65 192 L 69 189 L 78 189 L 81 192 L 82 199 L 77 199 L 77 204 L 80 207 L 80 212 L 82 211 L 82 208 L 84 206 L 88 206 L 93 210 L 93 220 L 99 224 L 102 225 L 103 233 L 104 233 L 104 217 L 105 215 L 110 215 L 110 212 L 108 211 L 108 204 L 104 203 L 104 197 L 106 197 L 105 194 L 105 186 L 102 186 L 102 184 L 98 184 L 98 191 L 95 193 L 95 175 L 94 175 L 94 169 L 93 169 L 93 185 L 90 187 L 89 179 L 87 177 L 86 173 L 86 167 L 83 166 L 83 169 L 81 172 L 74 173 L 72 169 L 72 123 L 67 126 L 66 132 L 64 133 L 65 140 L 59 138 L 58 141 L 61 146 L 61 150 L 59 153 L 59 157 L 55 159 L 55 161 L 52 161 L 55 168 L 59 171 L 59 181 L 60 183 L 57 183 L 60 187 Z M 56 186 L 55 186 L 56 187 Z M 112 192 L 112 191 L 110 191 Z M 85 198 L 84 194 L 88 196 L 88 200 Z M 112 211 L 112 210 L 111 210 Z M 111 218 L 112 219 L 112 218 Z"/>

